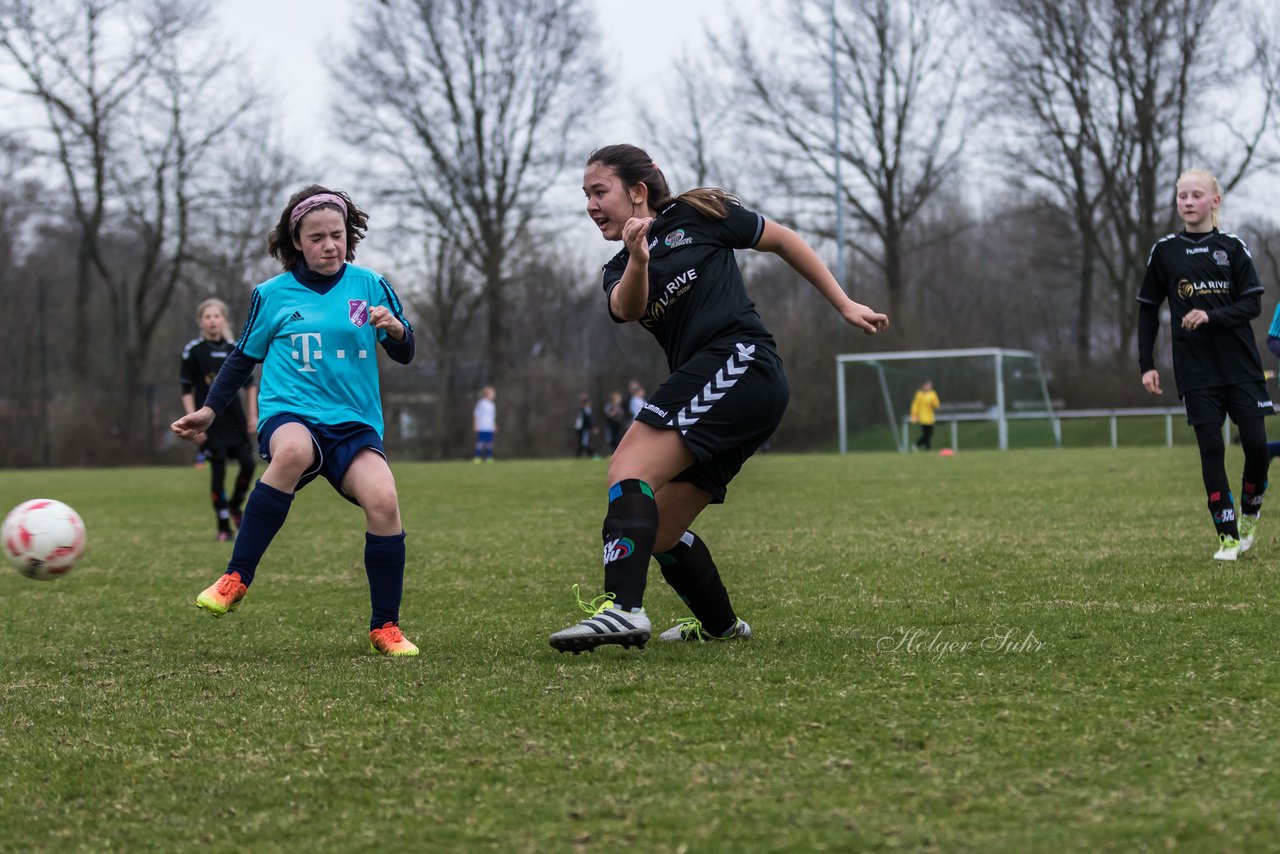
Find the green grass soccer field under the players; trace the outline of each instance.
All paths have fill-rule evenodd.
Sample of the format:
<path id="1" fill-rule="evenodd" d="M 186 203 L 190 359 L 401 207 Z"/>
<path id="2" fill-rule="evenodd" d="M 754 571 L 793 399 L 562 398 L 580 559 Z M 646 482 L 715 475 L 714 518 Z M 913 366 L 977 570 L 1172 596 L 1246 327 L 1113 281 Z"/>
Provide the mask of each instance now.
<path id="1" fill-rule="evenodd" d="M 396 471 L 402 661 L 323 484 L 214 620 L 205 472 L 0 474 L 90 530 L 0 575 L 0 850 L 1276 850 L 1280 521 L 1215 565 L 1193 448 L 762 456 L 698 526 L 755 636 L 576 657 L 604 463 Z"/>

